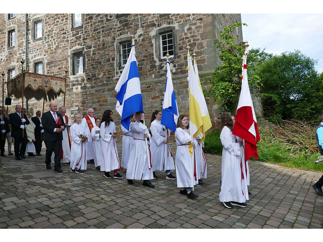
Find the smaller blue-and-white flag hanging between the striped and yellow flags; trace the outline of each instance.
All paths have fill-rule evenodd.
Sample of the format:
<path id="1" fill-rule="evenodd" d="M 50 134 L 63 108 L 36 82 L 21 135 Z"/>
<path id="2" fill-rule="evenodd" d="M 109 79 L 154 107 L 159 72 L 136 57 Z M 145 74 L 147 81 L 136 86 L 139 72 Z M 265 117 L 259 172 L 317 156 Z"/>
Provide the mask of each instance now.
<path id="1" fill-rule="evenodd" d="M 162 105 L 161 124 L 175 132 L 178 119 L 178 108 L 169 65 L 170 63 L 167 61 L 166 86 Z"/>

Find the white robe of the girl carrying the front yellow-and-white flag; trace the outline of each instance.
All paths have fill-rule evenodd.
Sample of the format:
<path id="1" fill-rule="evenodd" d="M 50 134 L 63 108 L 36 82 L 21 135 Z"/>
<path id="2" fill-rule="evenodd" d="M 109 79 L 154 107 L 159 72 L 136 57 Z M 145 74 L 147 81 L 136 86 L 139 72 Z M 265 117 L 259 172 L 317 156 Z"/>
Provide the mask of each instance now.
<path id="1" fill-rule="evenodd" d="M 177 187 L 194 187 L 196 184 L 194 167 L 188 150 L 189 142 L 193 142 L 193 135 L 191 136 L 187 129 L 178 127 L 175 131 L 175 140 L 177 145 L 175 157 Z"/>

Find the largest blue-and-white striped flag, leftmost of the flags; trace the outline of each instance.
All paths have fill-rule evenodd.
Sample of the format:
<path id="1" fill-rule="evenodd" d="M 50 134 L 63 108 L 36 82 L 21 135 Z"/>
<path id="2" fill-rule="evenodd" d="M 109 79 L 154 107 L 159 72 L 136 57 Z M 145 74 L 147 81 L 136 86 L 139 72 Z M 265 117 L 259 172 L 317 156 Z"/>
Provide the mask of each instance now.
<path id="1" fill-rule="evenodd" d="M 142 96 L 136 62 L 135 46 L 131 46 L 129 58 L 114 90 L 117 91 L 116 110 L 121 116 L 121 125 L 130 129 L 130 116 L 142 111 Z"/>

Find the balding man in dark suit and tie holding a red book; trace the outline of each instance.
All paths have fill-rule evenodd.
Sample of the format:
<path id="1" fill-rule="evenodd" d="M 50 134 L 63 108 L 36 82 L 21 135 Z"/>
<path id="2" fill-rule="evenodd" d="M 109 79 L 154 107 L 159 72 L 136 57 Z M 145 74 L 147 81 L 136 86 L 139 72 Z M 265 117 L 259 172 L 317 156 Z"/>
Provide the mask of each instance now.
<path id="1" fill-rule="evenodd" d="M 66 128 L 63 117 L 57 112 L 57 104 L 51 102 L 49 111 L 43 113 L 42 126 L 44 129 L 43 141 L 46 146 L 46 168 L 51 169 L 51 156 L 54 152 L 55 168 L 54 171 L 62 172 L 60 165 L 60 154 L 62 149 L 63 130 Z"/>

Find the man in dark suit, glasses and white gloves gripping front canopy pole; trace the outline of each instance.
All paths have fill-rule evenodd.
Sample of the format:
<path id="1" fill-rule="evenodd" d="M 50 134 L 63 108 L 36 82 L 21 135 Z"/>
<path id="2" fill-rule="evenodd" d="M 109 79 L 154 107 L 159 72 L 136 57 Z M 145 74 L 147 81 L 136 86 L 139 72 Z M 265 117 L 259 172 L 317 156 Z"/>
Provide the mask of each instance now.
<path id="1" fill-rule="evenodd" d="M 20 105 L 16 105 L 15 109 L 15 113 L 9 114 L 9 124 L 11 125 L 11 137 L 14 137 L 15 139 L 15 159 L 21 160 L 21 158 L 26 159 L 27 133 L 25 125 L 30 124 L 30 122 L 26 115 L 22 118 Z M 24 132 L 24 137 L 22 137 L 22 132 Z M 19 150 L 20 144 L 21 148 Z"/>

